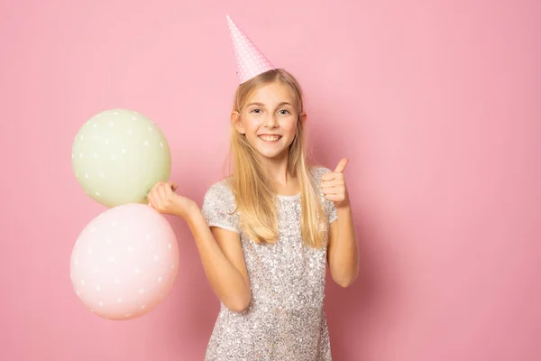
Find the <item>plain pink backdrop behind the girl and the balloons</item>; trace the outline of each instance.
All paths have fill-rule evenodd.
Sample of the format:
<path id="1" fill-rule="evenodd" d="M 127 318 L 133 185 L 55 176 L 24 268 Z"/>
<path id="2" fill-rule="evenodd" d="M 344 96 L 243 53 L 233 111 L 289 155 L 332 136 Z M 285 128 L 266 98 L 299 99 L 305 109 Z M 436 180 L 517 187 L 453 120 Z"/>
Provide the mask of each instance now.
<path id="1" fill-rule="evenodd" d="M 203 359 L 218 303 L 179 219 L 159 309 L 78 301 L 71 249 L 105 208 L 70 152 L 90 116 L 137 110 L 200 204 L 237 85 L 225 14 L 300 80 L 316 159 L 350 158 L 362 275 L 329 282 L 335 360 L 541 359 L 539 2 L 354 3 L 2 2 L 0 359 Z"/>

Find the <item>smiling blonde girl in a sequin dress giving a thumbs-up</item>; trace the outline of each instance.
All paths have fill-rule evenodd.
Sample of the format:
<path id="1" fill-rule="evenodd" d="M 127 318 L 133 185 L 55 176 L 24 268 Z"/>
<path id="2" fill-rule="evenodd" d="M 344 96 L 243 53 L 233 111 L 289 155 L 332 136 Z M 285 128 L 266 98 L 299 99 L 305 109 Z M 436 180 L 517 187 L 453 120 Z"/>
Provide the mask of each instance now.
<path id="1" fill-rule="evenodd" d="M 187 222 L 221 301 L 206 360 L 330 360 L 326 264 L 344 287 L 358 271 L 347 160 L 335 171 L 308 165 L 307 115 L 289 72 L 268 65 L 239 76 L 233 174 L 206 191 L 202 209 L 172 182 L 156 184 L 149 201 Z"/>

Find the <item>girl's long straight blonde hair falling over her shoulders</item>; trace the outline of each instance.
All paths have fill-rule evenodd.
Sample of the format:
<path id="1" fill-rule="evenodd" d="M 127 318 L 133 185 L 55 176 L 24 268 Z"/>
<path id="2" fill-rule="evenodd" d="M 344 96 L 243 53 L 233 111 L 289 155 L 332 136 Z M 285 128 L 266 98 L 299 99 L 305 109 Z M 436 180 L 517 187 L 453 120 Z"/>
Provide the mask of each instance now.
<path id="1" fill-rule="evenodd" d="M 284 69 L 272 69 L 241 84 L 234 97 L 234 111 L 243 111 L 252 92 L 275 81 L 289 87 L 298 112 L 297 134 L 289 145 L 288 171 L 298 178 L 301 196 L 301 236 L 306 245 L 321 247 L 326 244 L 328 226 L 322 201 L 316 194 L 309 165 L 307 143 L 303 129 L 303 94 L 298 81 Z M 256 243 L 274 243 L 278 238 L 277 194 L 261 164 L 257 151 L 245 134 L 240 134 L 232 123 L 231 158 L 234 160 L 230 183 L 239 212 L 240 226 Z M 230 158 L 230 159 L 231 159 Z"/>

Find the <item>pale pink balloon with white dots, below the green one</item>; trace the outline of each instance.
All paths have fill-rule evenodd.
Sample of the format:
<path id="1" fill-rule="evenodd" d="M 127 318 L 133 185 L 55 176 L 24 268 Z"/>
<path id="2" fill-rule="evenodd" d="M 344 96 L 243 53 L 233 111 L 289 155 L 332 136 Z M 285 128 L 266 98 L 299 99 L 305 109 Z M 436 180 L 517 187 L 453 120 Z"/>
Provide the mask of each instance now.
<path id="1" fill-rule="evenodd" d="M 142 204 L 109 208 L 83 229 L 70 278 L 79 299 L 105 319 L 133 319 L 170 292 L 179 246 L 166 218 Z"/>

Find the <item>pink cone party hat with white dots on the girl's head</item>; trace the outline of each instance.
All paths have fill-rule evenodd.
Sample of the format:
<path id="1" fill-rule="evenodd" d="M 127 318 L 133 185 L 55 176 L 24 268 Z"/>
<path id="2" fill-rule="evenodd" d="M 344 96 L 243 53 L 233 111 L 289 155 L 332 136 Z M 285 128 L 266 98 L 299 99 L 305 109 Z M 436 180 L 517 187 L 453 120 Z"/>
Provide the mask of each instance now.
<path id="1" fill-rule="evenodd" d="M 271 61 L 267 60 L 252 41 L 239 29 L 239 27 L 226 15 L 229 32 L 233 41 L 234 56 L 236 60 L 236 73 L 239 84 L 252 79 L 258 74 L 275 69 Z"/>

